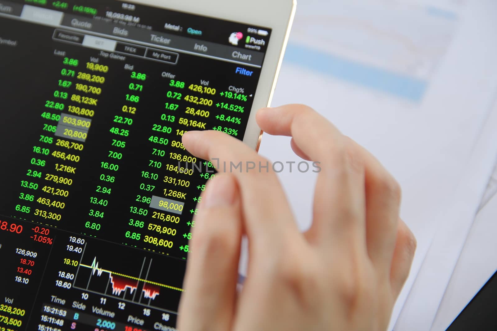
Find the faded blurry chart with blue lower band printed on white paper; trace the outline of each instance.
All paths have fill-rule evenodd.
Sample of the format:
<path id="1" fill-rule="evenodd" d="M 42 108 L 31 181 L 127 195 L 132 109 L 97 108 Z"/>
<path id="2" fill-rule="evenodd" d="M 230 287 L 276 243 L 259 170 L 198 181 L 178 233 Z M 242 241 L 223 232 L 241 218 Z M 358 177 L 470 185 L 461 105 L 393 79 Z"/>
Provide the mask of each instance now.
<path id="1" fill-rule="evenodd" d="M 406 1 L 330 1 L 302 7 L 286 60 L 418 102 L 452 42 L 458 14 Z"/>

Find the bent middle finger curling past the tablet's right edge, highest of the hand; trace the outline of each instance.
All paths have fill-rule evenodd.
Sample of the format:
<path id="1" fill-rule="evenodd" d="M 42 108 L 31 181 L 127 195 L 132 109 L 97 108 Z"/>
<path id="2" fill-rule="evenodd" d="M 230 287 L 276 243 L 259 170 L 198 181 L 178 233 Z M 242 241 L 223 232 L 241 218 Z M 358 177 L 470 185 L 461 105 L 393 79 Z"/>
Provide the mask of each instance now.
<path id="1" fill-rule="evenodd" d="M 365 250 L 361 155 L 350 148 L 338 129 L 308 106 L 263 109 L 257 113 L 257 122 L 264 132 L 292 136 L 301 154 L 321 163 L 314 194 L 313 225 L 308 232 L 310 239 L 324 246 L 345 243 Z"/>

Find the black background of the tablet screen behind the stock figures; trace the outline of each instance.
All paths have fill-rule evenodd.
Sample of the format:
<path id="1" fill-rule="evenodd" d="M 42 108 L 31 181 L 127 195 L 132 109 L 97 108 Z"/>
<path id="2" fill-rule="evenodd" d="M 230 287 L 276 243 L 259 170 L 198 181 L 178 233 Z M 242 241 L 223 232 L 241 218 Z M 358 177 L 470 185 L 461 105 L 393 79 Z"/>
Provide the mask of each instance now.
<path id="1" fill-rule="evenodd" d="M 148 280 L 181 288 L 187 253 L 180 251 L 178 247 L 188 245 L 188 239 L 183 238 L 182 234 L 191 232 L 187 222 L 192 220 L 193 215 L 189 210 L 197 208 L 196 202 L 192 198 L 200 196 L 201 191 L 197 189 L 197 186 L 205 184 L 206 180 L 199 176 L 199 172 L 195 172 L 192 176 L 186 176 L 151 168 L 149 167 L 149 160 L 161 161 L 164 165 L 177 165 L 177 161 L 170 160 L 167 157 L 169 152 L 190 155 L 184 150 L 170 146 L 170 142 L 173 140 L 181 141 L 181 136 L 175 133 L 176 130 L 196 130 L 196 128 L 179 125 L 179 118 L 205 122 L 207 123 L 206 129 L 218 126 L 238 129 L 237 137 L 243 138 L 252 98 L 248 98 L 247 102 L 241 102 L 240 100 L 221 98 L 219 93 L 227 91 L 230 86 L 237 86 L 244 87 L 244 94 L 246 95 L 254 94 L 260 69 L 246 67 L 254 71 L 254 74 L 249 77 L 235 73 L 236 68 L 240 65 L 181 53 L 176 66 L 133 57 L 127 57 L 126 61 L 104 59 L 99 56 L 100 51 L 98 50 L 53 41 L 53 33 L 54 28 L 52 27 L 0 17 L 0 37 L 7 37 L 19 42 L 17 47 L 0 46 L 0 107 L 2 110 L 2 128 L 0 130 L 0 171 L 2 174 L 0 178 L 0 222 L 7 222 L 8 224 L 6 230 L 0 230 L 0 261 L 4 265 L 4 270 L 0 272 L 0 298 L 2 299 L 0 304 L 4 304 L 5 307 L 16 307 L 26 311 L 23 317 L 12 313 L 1 313 L 0 311 L 0 315 L 8 319 L 14 318 L 22 321 L 22 325 L 18 327 L 15 325 L 9 326 L 8 323 L 12 321 L 7 322 L 5 325 L 1 325 L 0 322 L 0 327 L 4 326 L 16 331 L 94 330 L 98 326 L 98 319 L 103 319 L 114 321 L 116 326 L 114 329 L 100 326 L 100 330 L 134 330 L 136 328 L 139 328 L 138 330 L 153 330 L 154 328 L 160 328 L 157 323 L 160 323 L 163 327 L 172 328 L 175 326 L 175 312 L 177 311 L 180 291 L 161 287 L 160 294 L 154 300 L 141 300 L 141 302 L 138 302 L 137 297 L 133 298 L 133 292 L 130 293 L 128 289 L 125 295 L 127 294 L 129 297 L 121 300 L 122 295 L 112 296 L 110 295 L 111 290 L 104 290 L 105 286 L 109 286 L 108 284 L 105 285 L 108 279 L 105 273 L 100 276 L 95 276 L 96 273 L 93 273 L 91 278 L 90 274 L 95 270 L 66 265 L 64 261 L 69 259 L 78 261 L 79 264 L 91 265 L 93 258 L 95 258 L 99 263 L 99 268 L 140 279 L 143 279 L 145 275 L 145 272 L 141 271 L 144 268 L 143 266 L 145 265 L 145 269 L 150 266 Z M 54 55 L 55 50 L 66 52 L 66 57 L 68 58 L 78 59 L 80 65 L 77 68 L 63 65 L 64 57 Z M 84 68 L 90 57 L 98 58 L 99 65 L 109 66 L 109 72 L 101 74 L 106 78 L 104 84 L 92 84 L 78 80 L 76 77 L 67 78 L 61 76 L 61 69 L 63 68 L 74 69 L 76 74 L 79 71 L 91 73 L 91 71 Z M 130 79 L 131 71 L 124 68 L 126 64 L 134 66 L 133 71 L 146 73 L 147 80 L 140 82 Z M 163 78 L 163 72 L 176 75 L 174 80 L 185 82 L 185 88 L 170 87 L 170 79 Z M 70 80 L 73 85 L 70 89 L 63 89 L 58 86 L 59 79 Z M 200 95 L 188 90 L 190 84 L 200 85 L 201 79 L 209 81 L 209 87 L 216 88 L 217 94 L 215 96 Z M 72 94 L 86 95 L 74 89 L 76 83 L 102 88 L 101 95 L 87 95 L 98 99 L 96 107 L 71 102 Z M 130 91 L 128 88 L 130 83 L 143 84 L 143 92 Z M 55 90 L 67 91 L 69 99 L 54 98 L 53 93 Z M 166 97 L 167 91 L 180 92 L 183 97 L 186 95 L 206 97 L 214 100 L 214 104 L 225 102 L 242 105 L 245 106 L 246 111 L 244 113 L 233 113 L 215 106 L 199 106 L 184 100 L 169 99 Z M 133 103 L 125 101 L 126 94 L 139 95 L 141 98 L 140 102 L 136 104 L 138 109 L 136 115 L 128 116 L 121 111 L 123 105 L 133 105 Z M 64 103 L 66 105 L 65 110 L 62 111 L 64 114 L 70 114 L 67 111 L 69 105 L 95 110 L 88 138 L 83 143 L 83 151 L 57 147 L 55 141 L 60 137 L 54 136 L 51 132 L 43 131 L 44 124 L 57 125 L 57 122 L 45 120 L 41 118 L 41 114 L 44 112 L 61 113 L 54 109 L 45 108 L 44 105 L 47 100 Z M 164 107 L 166 102 L 177 103 L 179 108 L 176 111 L 166 110 Z M 210 111 L 211 115 L 208 119 L 193 117 L 185 114 L 186 107 Z M 161 121 L 161 114 L 175 116 L 175 122 L 166 123 Z M 239 117 L 241 118 L 241 124 L 219 122 L 215 119 L 218 114 Z M 132 118 L 133 125 L 116 124 L 113 122 L 115 116 Z M 154 124 L 171 127 L 172 133 L 154 132 L 152 131 Z M 109 132 L 111 128 L 129 130 L 130 134 L 128 137 L 115 135 Z M 44 144 L 40 142 L 41 134 L 54 137 L 54 143 Z M 161 146 L 150 142 L 148 139 L 152 135 L 167 138 L 169 145 Z M 112 139 L 126 141 L 126 148 L 121 149 L 111 146 Z M 65 140 L 78 142 L 67 138 Z M 33 152 L 34 146 L 49 148 L 50 154 L 53 151 L 77 154 L 81 157 L 81 161 L 64 161 L 50 154 L 46 156 L 40 155 Z M 166 150 L 166 157 L 153 156 L 153 148 Z M 110 150 L 122 152 L 123 158 L 121 160 L 109 159 L 108 153 Z M 36 167 L 31 165 L 30 160 L 33 158 L 46 160 L 46 166 Z M 102 169 L 100 167 L 101 162 L 118 164 L 120 169 L 115 172 Z M 182 163 L 184 164 L 184 162 Z M 201 161 L 199 160 L 197 163 L 200 164 Z M 77 168 L 76 174 L 56 172 L 55 164 L 74 166 Z M 26 173 L 30 169 L 41 171 L 43 173 L 42 177 L 27 177 Z M 154 181 L 142 178 L 142 171 L 156 173 L 159 175 L 159 179 Z M 72 179 L 74 183 L 71 186 L 55 184 L 46 181 L 45 174 L 67 177 Z M 100 181 L 99 176 L 101 174 L 115 176 L 115 182 L 104 183 Z M 188 180 L 191 184 L 188 188 L 166 184 L 163 181 L 164 176 Z M 21 181 L 38 183 L 39 188 L 36 191 L 22 188 L 20 186 Z M 147 193 L 140 190 L 140 184 L 142 183 L 155 185 L 155 191 Z M 95 188 L 99 185 L 111 188 L 112 194 L 95 193 Z M 64 198 L 44 193 L 41 191 L 44 186 L 67 190 L 70 195 Z M 163 197 L 161 192 L 164 189 L 177 190 L 187 195 L 184 200 L 185 205 L 182 215 L 163 212 L 166 215 L 180 216 L 178 224 L 152 218 L 153 211 L 160 210 L 149 208 L 148 204 L 136 201 L 137 195 Z M 34 201 L 19 199 L 21 193 L 34 195 Z M 107 199 L 108 205 L 98 206 L 91 204 L 89 203 L 90 197 Z M 43 206 L 36 202 L 38 198 L 63 201 L 66 206 L 64 209 Z M 180 199 L 175 200 L 182 201 Z M 31 211 L 29 214 L 16 211 L 16 205 L 29 206 Z M 147 216 L 132 214 L 130 213 L 131 206 L 148 209 L 149 213 Z M 35 209 L 58 213 L 62 216 L 62 219 L 56 221 L 34 216 Z M 104 211 L 104 218 L 89 217 L 88 211 L 90 209 Z M 128 225 L 131 218 L 144 221 L 145 227 L 139 229 Z M 100 223 L 101 229 L 95 231 L 86 228 L 85 223 L 88 221 Z M 9 232 L 8 227 L 12 223 L 22 225 L 23 232 L 21 234 Z M 177 231 L 172 240 L 174 245 L 171 249 L 160 248 L 157 245 L 143 241 L 145 235 L 166 240 L 172 238 L 171 236 L 147 230 L 149 223 L 170 226 Z M 36 227 L 50 231 L 47 237 L 53 240 L 52 245 L 34 241 L 32 237 L 36 234 L 35 229 L 38 229 Z M 141 240 L 126 238 L 125 233 L 127 231 L 141 233 Z M 83 254 L 68 251 L 67 245 L 71 244 L 70 237 L 80 238 L 85 241 L 83 245 L 74 244 L 74 247 L 79 246 L 84 249 Z M 32 259 L 36 264 L 31 267 L 32 274 L 29 276 L 18 272 L 19 266 L 22 267 L 19 264 L 20 259 L 26 259 L 26 257 L 17 254 L 17 249 L 37 252 L 37 257 Z M 75 279 L 61 278 L 60 271 L 74 273 L 76 277 Z M 16 282 L 14 280 L 16 276 L 29 278 L 29 283 L 21 284 Z M 86 290 L 81 289 L 82 284 L 84 287 L 84 283 L 88 278 L 93 279 L 89 283 L 90 286 Z M 56 286 L 58 280 L 71 283 L 71 288 Z M 137 289 L 134 292 L 140 294 L 143 286 L 144 283 L 138 281 Z M 84 293 L 88 295 L 85 299 L 82 297 Z M 3 302 L 3 297 L 5 297 L 5 302 Z M 54 299 L 54 297 L 63 299 L 64 304 L 62 304 L 62 301 Z M 13 303 L 9 303 L 7 298 L 12 298 Z M 102 301 L 102 298 L 105 301 Z M 119 303 L 125 303 L 126 307 L 119 309 Z M 84 304 L 85 309 L 82 309 L 82 304 Z M 144 311 L 148 307 L 147 304 L 151 307 L 151 311 L 148 312 L 149 315 Z M 99 315 L 98 312 L 95 313 L 95 308 L 97 310 L 101 308 L 111 311 L 114 313 L 114 317 L 100 316 L 101 314 Z M 164 319 L 165 313 L 170 315 L 168 321 Z M 136 317 L 136 319 L 130 320 L 130 317 Z M 63 325 L 61 325 L 60 319 L 63 320 Z M 140 319 L 143 320 L 143 324 Z M 133 321 L 138 322 L 133 323 Z M 130 327 L 132 329 L 128 329 Z"/>

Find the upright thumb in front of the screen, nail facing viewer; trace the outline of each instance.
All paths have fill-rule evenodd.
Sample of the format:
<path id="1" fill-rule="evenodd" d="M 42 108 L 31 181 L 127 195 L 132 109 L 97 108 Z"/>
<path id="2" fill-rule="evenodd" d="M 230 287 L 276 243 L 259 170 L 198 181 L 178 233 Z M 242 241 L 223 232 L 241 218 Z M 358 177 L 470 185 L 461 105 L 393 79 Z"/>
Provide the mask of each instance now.
<path id="1" fill-rule="evenodd" d="M 241 238 L 237 181 L 229 174 L 218 175 L 207 185 L 200 212 L 195 217 L 178 330 L 231 329 Z"/>

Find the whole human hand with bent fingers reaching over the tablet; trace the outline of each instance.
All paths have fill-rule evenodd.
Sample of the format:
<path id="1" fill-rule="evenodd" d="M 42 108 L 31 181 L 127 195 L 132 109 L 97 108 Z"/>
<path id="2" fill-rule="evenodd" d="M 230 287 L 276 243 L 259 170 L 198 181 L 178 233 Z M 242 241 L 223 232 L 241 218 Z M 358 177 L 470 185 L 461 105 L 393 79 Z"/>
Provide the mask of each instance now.
<path id="1" fill-rule="evenodd" d="M 306 106 L 262 109 L 257 123 L 292 136 L 299 156 L 321 162 L 312 227 L 299 232 L 271 167 L 210 181 L 195 217 L 178 330 L 385 331 L 416 246 L 399 218 L 399 185 Z M 183 144 L 221 164 L 267 161 L 220 132 L 188 132 Z M 237 294 L 242 234 L 248 274 Z"/>

